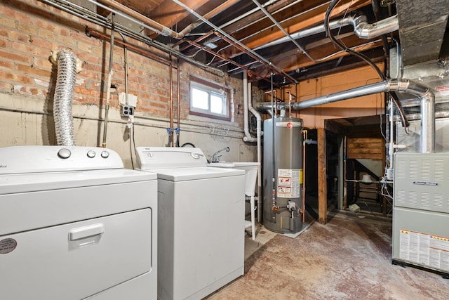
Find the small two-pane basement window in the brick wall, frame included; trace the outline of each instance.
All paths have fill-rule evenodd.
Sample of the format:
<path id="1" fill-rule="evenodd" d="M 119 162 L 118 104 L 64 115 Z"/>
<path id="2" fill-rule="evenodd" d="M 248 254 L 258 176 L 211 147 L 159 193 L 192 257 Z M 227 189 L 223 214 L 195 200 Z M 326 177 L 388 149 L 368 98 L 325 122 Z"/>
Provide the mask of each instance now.
<path id="1" fill-rule="evenodd" d="M 205 79 L 190 80 L 190 115 L 230 120 L 229 90 Z"/>

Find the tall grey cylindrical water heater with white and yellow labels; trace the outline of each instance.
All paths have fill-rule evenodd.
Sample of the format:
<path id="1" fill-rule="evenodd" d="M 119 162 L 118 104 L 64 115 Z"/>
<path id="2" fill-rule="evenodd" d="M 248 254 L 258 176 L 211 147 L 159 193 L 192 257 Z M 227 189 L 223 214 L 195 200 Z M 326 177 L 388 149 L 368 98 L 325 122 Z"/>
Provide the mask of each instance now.
<path id="1" fill-rule="evenodd" d="M 263 221 L 276 233 L 302 230 L 302 119 L 264 121 Z"/>

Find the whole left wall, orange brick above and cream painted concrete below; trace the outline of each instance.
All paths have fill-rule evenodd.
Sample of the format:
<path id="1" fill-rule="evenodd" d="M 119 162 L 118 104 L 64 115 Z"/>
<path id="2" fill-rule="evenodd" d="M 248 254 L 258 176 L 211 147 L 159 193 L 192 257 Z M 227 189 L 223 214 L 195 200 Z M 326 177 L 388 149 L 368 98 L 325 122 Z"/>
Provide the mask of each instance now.
<path id="1" fill-rule="evenodd" d="M 53 93 L 57 67 L 52 51 L 71 49 L 81 60 L 76 76 L 73 116 L 76 145 L 100 146 L 103 139 L 109 41 L 88 37 L 86 27 L 109 37 L 91 22 L 36 0 L 6 0 L 0 3 L 0 147 L 11 145 L 56 145 Z M 134 126 L 121 117 L 119 94 L 125 91 L 125 53 L 115 36 L 114 63 L 107 123 L 107 148 L 119 152 L 126 167 L 132 167 L 133 138 L 136 146 L 170 145 L 170 66 L 167 53 L 128 37 L 128 91 L 138 97 Z M 142 54 L 143 53 L 143 54 Z M 146 55 L 145 53 L 149 53 Z M 159 60 L 161 58 L 162 60 Z M 173 107 L 177 126 L 177 62 L 173 62 Z M 206 155 L 229 146 L 223 159 L 254 161 L 255 145 L 243 138 L 243 85 L 239 78 L 180 60 L 180 145 L 193 143 Z M 189 76 L 195 74 L 234 89 L 234 122 L 189 115 Z M 127 124 L 128 123 L 128 124 Z M 130 134 L 133 131 L 134 134 Z"/>

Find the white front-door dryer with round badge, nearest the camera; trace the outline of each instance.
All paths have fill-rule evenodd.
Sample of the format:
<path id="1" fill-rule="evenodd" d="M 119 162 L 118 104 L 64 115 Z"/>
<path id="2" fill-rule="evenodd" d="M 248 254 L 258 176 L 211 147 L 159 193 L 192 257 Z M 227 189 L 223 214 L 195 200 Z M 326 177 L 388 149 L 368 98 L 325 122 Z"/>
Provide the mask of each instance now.
<path id="1" fill-rule="evenodd" d="M 0 148 L 0 298 L 156 299 L 156 189 L 105 148 Z"/>

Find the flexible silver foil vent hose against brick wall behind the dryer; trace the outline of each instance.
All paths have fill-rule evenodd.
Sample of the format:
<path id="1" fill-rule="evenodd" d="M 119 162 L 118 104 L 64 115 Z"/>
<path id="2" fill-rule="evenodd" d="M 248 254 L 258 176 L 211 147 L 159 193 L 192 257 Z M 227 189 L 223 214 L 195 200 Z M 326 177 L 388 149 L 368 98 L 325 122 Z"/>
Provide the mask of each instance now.
<path id="1" fill-rule="evenodd" d="M 58 145 L 74 146 L 72 98 L 76 73 L 81 71 L 81 61 L 68 49 L 53 51 L 51 60 L 58 66 L 53 100 L 56 141 Z"/>

